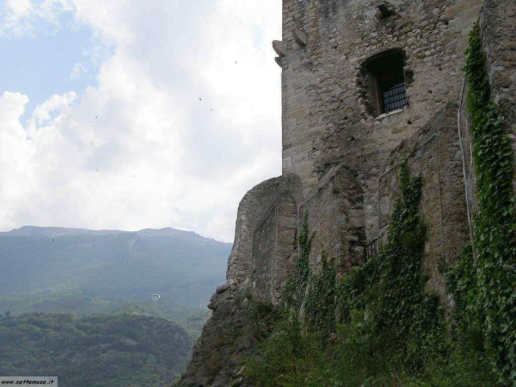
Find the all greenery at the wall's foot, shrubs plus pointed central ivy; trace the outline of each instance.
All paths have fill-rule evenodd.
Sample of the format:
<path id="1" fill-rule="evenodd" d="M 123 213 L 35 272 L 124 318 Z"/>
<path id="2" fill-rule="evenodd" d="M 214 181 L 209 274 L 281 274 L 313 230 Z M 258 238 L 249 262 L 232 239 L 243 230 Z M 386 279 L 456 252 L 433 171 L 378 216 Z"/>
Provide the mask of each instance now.
<path id="1" fill-rule="evenodd" d="M 255 337 L 260 340 L 259 351 L 246 366 L 252 385 L 495 385 L 487 353 L 476 345 L 476 332 L 446 329 L 437 297 L 425 291 L 425 227 L 419 213 L 423 182 L 409 175 L 405 163 L 400 183 L 389 241 L 377 256 L 339 284 L 333 263 L 326 259 L 319 271 L 304 277 L 308 258 L 306 263 L 303 259 L 292 280 L 304 286 L 300 279 L 305 278 L 303 295 L 289 282 L 282 308 L 253 308 L 262 311 L 257 320 L 264 324 L 256 331 L 270 333 Z M 305 218 L 301 253 L 310 251 L 308 235 Z M 298 317 L 303 310 L 305 334 Z M 263 311 L 269 311 L 265 317 Z"/>

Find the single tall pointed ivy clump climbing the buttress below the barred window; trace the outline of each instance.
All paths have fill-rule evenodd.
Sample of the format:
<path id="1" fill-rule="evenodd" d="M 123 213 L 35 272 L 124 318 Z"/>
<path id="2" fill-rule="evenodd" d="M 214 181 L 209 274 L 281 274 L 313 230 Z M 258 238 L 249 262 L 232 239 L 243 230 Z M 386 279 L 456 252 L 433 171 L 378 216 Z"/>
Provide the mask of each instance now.
<path id="1" fill-rule="evenodd" d="M 425 225 L 419 212 L 421 176 L 400 167 L 401 195 L 396 198 L 389 240 L 379 253 L 354 270 L 338 287 L 341 318 L 360 312 L 364 333 L 373 342 L 407 346 L 418 351 L 444 332 L 437 296 L 425 292 L 422 268 Z"/>

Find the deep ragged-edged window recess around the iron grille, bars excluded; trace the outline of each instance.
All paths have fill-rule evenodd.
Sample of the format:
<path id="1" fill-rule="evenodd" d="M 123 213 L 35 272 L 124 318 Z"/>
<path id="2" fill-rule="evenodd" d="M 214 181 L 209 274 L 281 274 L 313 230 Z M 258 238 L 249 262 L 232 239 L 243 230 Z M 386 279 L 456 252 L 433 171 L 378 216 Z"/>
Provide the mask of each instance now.
<path id="1" fill-rule="evenodd" d="M 412 71 L 406 68 L 407 55 L 403 49 L 390 49 L 366 58 L 360 65 L 357 86 L 361 90 L 367 113 L 376 118 L 393 110 L 386 110 L 383 99 L 385 85 L 394 79 L 402 79 L 405 84 L 405 105 L 409 105 L 407 86 L 413 82 Z"/>

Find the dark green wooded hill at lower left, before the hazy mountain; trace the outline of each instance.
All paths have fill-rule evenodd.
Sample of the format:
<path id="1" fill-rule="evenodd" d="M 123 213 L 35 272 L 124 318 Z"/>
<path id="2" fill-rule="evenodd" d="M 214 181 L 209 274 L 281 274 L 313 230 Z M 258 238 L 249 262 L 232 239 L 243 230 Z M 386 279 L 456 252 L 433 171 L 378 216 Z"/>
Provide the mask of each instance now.
<path id="1" fill-rule="evenodd" d="M 0 343 L 0 375 L 56 375 L 69 387 L 171 383 L 193 344 L 163 318 L 44 313 L 0 319 Z"/>

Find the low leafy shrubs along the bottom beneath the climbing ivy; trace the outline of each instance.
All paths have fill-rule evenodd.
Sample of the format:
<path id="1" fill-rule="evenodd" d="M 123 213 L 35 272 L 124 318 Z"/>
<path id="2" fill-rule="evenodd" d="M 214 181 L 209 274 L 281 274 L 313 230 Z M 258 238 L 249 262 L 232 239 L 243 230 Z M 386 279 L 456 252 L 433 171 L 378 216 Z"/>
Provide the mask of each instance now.
<path id="1" fill-rule="evenodd" d="M 405 358 L 399 349 L 375 345 L 359 319 L 333 332 L 301 334 L 291 316 L 261 342 L 246 374 L 256 387 L 486 387 L 493 386 L 489 364 L 469 347 L 421 352 Z M 480 356 L 479 356 L 480 355 Z M 422 366 L 414 368 L 413 363 Z"/>

